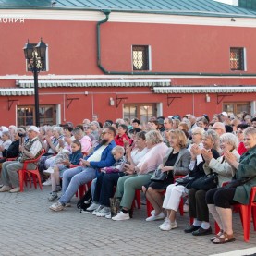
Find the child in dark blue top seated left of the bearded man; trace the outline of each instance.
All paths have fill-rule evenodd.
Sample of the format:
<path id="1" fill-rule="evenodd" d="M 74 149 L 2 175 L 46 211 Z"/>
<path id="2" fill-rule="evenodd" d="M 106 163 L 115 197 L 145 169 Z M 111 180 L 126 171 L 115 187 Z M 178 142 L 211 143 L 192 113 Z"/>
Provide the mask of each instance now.
<path id="1" fill-rule="evenodd" d="M 52 166 L 54 172 L 51 173 L 51 181 L 52 181 L 52 192 L 48 198 L 49 201 L 54 201 L 57 198 L 57 192 L 61 191 L 60 187 L 60 177 L 63 177 L 63 173 L 70 165 L 79 165 L 79 159 L 83 157 L 81 152 L 81 143 L 79 140 L 74 140 L 71 143 L 71 152 L 69 154 L 69 158 L 65 159 L 67 152 L 65 150 L 62 151 L 61 156 L 55 159 L 55 164 Z"/>

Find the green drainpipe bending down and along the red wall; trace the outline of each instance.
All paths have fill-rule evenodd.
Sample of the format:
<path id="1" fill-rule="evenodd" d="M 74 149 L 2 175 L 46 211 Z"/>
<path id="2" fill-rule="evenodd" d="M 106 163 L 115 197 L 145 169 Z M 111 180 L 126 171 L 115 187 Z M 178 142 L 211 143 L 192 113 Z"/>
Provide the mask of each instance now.
<path id="1" fill-rule="evenodd" d="M 201 72 L 150 72 L 150 71 L 109 71 L 102 65 L 101 56 L 101 25 L 108 21 L 111 10 L 103 10 L 105 18 L 97 22 L 97 64 L 98 67 L 107 75 L 164 75 L 164 76 L 206 76 L 206 77 L 252 77 L 255 73 L 201 73 Z"/>

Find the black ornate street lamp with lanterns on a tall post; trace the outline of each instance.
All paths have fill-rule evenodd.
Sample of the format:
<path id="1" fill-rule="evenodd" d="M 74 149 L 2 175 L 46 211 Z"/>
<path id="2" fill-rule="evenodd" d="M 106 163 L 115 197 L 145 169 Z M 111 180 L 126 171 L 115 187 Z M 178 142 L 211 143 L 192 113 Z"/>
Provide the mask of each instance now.
<path id="1" fill-rule="evenodd" d="M 45 55 L 47 45 L 43 43 L 42 39 L 37 45 L 35 43 L 25 44 L 23 50 L 27 60 L 28 71 L 33 72 L 34 76 L 34 97 L 35 97 L 35 125 L 40 126 L 39 120 L 39 97 L 38 97 L 38 73 L 45 71 Z"/>

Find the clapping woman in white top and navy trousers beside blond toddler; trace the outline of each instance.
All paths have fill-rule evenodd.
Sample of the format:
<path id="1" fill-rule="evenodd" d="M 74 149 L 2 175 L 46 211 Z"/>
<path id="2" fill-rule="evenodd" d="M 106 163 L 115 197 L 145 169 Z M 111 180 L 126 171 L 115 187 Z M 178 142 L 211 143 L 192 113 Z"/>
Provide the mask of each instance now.
<path id="1" fill-rule="evenodd" d="M 140 162 L 140 159 L 145 155 L 147 152 L 146 148 L 146 142 L 145 142 L 145 132 L 140 131 L 135 135 L 134 141 L 135 141 L 135 147 L 132 151 L 130 150 L 131 147 L 128 146 L 126 150 L 126 157 L 127 162 L 131 165 L 138 165 Z M 116 146 L 117 147 L 117 146 Z M 118 146 L 120 148 L 121 146 Z M 116 149 L 116 148 L 114 148 Z M 121 147 L 121 149 L 123 149 Z M 116 157 L 115 157 L 116 158 Z M 117 184 L 118 178 L 123 177 L 125 175 L 123 168 L 120 169 L 116 173 L 106 173 L 101 174 L 98 176 L 96 181 L 96 188 L 93 194 L 93 203 L 87 209 L 87 211 L 93 211 L 93 213 L 100 217 L 109 217 L 110 214 L 110 201 L 109 199 L 113 197 L 114 194 L 114 187 Z M 99 206 L 104 206 L 104 208 L 101 209 Z M 93 214 L 92 213 L 92 214 Z"/>

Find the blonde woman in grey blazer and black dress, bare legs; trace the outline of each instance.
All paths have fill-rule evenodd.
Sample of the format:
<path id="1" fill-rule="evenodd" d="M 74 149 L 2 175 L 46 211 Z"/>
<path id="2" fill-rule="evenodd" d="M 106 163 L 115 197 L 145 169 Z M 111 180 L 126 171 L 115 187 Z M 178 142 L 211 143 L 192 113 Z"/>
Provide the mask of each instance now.
<path id="1" fill-rule="evenodd" d="M 167 186 L 174 182 L 176 175 L 187 175 L 189 172 L 190 152 L 186 149 L 187 137 L 180 129 L 172 129 L 170 131 L 170 146 L 163 159 L 163 164 L 158 168 L 162 172 L 167 172 L 165 180 L 155 180 L 148 185 L 148 189 L 143 186 L 146 198 L 151 202 L 154 212 L 146 221 L 154 221 L 165 218 L 162 211 L 163 195 Z"/>

